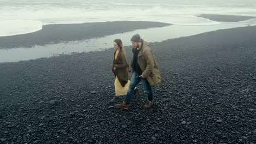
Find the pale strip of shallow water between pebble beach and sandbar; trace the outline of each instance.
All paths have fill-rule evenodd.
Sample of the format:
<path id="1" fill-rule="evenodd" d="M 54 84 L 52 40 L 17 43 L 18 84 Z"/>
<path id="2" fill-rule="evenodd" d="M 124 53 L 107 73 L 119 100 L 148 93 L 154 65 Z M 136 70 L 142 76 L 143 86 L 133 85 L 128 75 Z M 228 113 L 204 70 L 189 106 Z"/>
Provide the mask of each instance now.
<path id="1" fill-rule="evenodd" d="M 256 22 L 255 22 L 256 23 Z M 132 32 L 108 35 L 102 38 L 94 38 L 83 41 L 70 41 L 68 43 L 49 44 L 44 46 L 21 47 L 16 49 L 0 49 L 0 62 L 18 62 L 42 57 L 58 55 L 70 55 L 73 52 L 90 52 L 109 49 L 113 47 L 114 39 L 122 39 L 125 46 L 131 45 L 130 38 L 139 33 L 141 37 L 149 42 L 163 41 L 190 35 L 216 31 L 218 29 L 245 27 L 256 25 L 252 20 L 244 22 L 222 22 L 219 25 L 186 26 L 171 25 L 160 28 L 138 29 Z"/>

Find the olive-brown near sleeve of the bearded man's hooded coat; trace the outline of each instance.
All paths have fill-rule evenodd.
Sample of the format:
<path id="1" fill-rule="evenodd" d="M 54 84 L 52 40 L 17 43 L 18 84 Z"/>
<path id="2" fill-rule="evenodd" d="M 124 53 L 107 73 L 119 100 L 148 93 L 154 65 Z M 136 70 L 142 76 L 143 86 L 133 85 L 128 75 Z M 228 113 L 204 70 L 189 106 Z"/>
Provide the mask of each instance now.
<path id="1" fill-rule="evenodd" d="M 146 69 L 143 71 L 142 75 L 143 77 L 147 78 L 152 73 L 153 66 L 154 66 L 154 58 L 152 51 L 150 49 L 144 50 L 144 59 L 147 63 Z"/>

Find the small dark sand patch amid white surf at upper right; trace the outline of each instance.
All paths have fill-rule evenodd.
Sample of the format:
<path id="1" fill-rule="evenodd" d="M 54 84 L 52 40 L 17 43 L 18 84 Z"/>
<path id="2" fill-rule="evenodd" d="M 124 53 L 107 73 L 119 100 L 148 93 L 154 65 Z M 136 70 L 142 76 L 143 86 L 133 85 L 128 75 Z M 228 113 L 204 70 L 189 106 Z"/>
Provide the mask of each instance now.
<path id="1" fill-rule="evenodd" d="M 203 17 L 205 19 L 210 19 L 212 21 L 220 21 L 220 22 L 238 22 L 238 21 L 245 21 L 245 20 L 256 18 L 254 16 L 213 15 L 213 14 L 201 14 L 197 17 Z"/>

